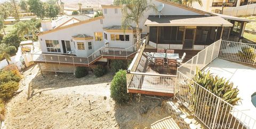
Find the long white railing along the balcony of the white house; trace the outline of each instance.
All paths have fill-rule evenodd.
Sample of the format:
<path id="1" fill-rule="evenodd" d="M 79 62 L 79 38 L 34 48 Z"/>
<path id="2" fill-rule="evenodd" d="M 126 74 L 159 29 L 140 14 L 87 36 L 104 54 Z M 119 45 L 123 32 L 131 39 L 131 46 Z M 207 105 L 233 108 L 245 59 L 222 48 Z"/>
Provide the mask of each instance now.
<path id="1" fill-rule="evenodd" d="M 128 47 L 127 49 L 121 48 L 111 48 L 111 47 L 101 47 L 97 51 L 93 52 L 89 57 L 76 57 L 73 55 L 60 55 L 60 54 L 42 54 L 42 53 L 32 53 L 33 61 L 40 62 L 54 62 L 54 63 L 70 63 L 70 64 L 90 64 L 96 61 L 102 56 L 111 57 L 129 57 L 130 55 L 137 52 L 136 44 Z"/>

